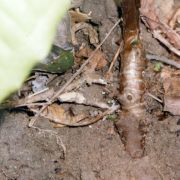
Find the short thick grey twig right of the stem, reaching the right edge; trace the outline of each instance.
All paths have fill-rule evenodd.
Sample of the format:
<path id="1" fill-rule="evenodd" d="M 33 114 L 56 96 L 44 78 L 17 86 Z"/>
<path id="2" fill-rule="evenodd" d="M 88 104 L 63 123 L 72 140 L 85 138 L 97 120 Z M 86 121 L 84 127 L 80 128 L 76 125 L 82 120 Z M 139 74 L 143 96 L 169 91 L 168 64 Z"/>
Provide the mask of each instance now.
<path id="1" fill-rule="evenodd" d="M 161 61 L 163 63 L 169 64 L 171 66 L 174 66 L 176 68 L 180 69 L 180 63 L 174 61 L 173 59 L 169 59 L 165 56 L 159 56 L 159 55 L 154 55 L 154 54 L 146 54 L 146 58 L 148 60 L 156 60 L 156 61 Z"/>

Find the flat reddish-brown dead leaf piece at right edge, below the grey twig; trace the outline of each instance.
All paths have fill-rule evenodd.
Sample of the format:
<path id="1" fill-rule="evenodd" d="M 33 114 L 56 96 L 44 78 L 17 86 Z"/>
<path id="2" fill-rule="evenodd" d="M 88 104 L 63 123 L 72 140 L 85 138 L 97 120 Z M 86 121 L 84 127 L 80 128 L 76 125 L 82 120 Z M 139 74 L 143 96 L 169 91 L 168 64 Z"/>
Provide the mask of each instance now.
<path id="1" fill-rule="evenodd" d="M 180 71 L 163 68 L 161 73 L 164 87 L 164 111 L 180 115 Z"/>

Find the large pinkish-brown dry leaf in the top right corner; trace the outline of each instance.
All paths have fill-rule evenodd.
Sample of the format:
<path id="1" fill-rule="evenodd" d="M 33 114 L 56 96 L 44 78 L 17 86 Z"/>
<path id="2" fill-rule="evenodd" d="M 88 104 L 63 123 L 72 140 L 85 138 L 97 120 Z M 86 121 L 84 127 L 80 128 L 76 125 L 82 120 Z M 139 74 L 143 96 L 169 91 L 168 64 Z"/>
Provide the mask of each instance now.
<path id="1" fill-rule="evenodd" d="M 176 9 L 174 0 L 141 0 L 140 12 L 146 26 L 156 39 L 179 56 L 180 35 L 172 28 L 178 17 L 178 12 L 173 15 Z"/>

